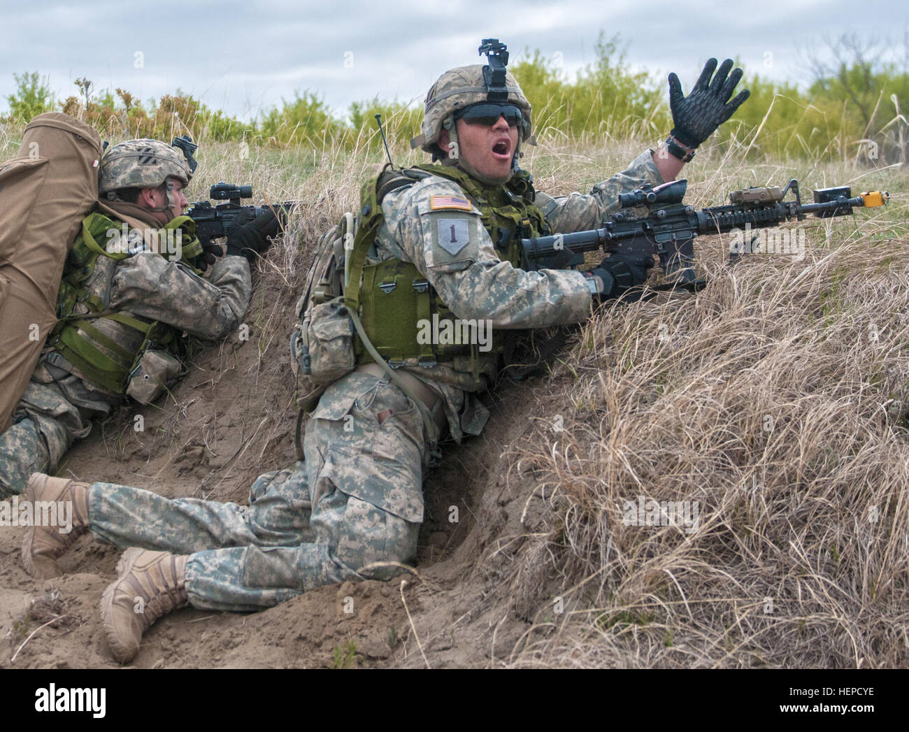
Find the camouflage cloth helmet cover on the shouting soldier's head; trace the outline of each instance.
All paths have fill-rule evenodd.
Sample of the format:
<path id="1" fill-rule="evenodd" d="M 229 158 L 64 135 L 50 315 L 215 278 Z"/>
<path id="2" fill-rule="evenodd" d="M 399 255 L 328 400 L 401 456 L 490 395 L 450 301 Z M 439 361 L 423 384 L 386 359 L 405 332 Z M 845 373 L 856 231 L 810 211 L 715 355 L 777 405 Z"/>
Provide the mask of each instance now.
<path id="1" fill-rule="evenodd" d="M 435 144 L 442 132 L 442 124 L 445 119 L 454 115 L 459 109 L 486 101 L 487 90 L 484 86 L 483 66 L 482 64 L 458 66 L 439 76 L 426 94 L 422 134 L 410 141 L 412 148 L 420 146 L 427 153 L 434 153 Z M 505 86 L 508 89 L 506 104 L 517 106 L 527 122 L 521 138 L 521 142 L 524 142 L 531 136 L 530 102 L 527 101 L 527 97 L 524 96 L 524 92 L 521 91 L 521 87 L 510 71 L 505 73 Z M 530 144 L 533 145 L 534 140 L 531 140 Z"/>

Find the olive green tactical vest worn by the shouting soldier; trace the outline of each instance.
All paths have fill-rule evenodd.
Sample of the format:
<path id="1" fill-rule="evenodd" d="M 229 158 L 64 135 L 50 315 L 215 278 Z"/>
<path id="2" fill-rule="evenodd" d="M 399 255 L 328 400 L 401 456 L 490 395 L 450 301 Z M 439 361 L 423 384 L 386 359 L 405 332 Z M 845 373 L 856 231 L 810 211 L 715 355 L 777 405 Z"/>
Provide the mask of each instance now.
<path id="1" fill-rule="evenodd" d="M 417 165 L 402 171 L 389 171 L 364 186 L 361 195 L 361 221 L 351 256 L 345 305 L 360 312 L 366 335 L 390 366 L 401 366 L 405 359 L 417 359 L 421 366 L 451 361 L 455 356 L 470 356 L 474 377 L 480 354 L 476 344 L 434 344 L 418 342 L 417 323 L 441 324 L 455 316 L 417 268 L 399 259 L 365 264 L 365 256 L 382 224 L 382 198 L 396 188 L 413 185 L 417 180 L 437 175 L 454 181 L 481 212 L 481 221 L 503 261 L 520 267 L 520 240 L 550 233 L 543 212 L 534 206 L 533 178 L 521 171 L 504 186 L 483 184 L 460 168 L 446 165 Z M 362 285 L 360 274 L 362 272 Z M 357 310 L 359 308 L 359 311 Z M 493 332 L 492 354 L 501 353 L 501 332 Z M 371 363 L 359 337 L 355 354 L 360 364 Z"/>

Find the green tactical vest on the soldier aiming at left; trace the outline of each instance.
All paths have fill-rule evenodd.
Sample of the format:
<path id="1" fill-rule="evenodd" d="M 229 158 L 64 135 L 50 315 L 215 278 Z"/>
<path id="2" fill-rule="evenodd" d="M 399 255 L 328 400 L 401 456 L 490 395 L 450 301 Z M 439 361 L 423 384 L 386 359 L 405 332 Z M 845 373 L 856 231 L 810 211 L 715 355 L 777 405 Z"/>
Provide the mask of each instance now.
<path id="1" fill-rule="evenodd" d="M 124 394 L 139 358 L 148 348 L 175 353 L 180 331 L 165 323 L 110 308 L 110 289 L 117 263 L 127 252 L 109 252 L 99 244 L 122 224 L 98 212 L 85 216 L 82 231 L 66 258 L 57 296 L 57 324 L 47 344 L 48 363 L 61 366 L 113 394 Z M 180 256 L 192 260 L 202 251 L 195 222 L 179 216 L 159 232 L 180 229 Z M 176 235 L 172 235 L 176 236 Z"/>

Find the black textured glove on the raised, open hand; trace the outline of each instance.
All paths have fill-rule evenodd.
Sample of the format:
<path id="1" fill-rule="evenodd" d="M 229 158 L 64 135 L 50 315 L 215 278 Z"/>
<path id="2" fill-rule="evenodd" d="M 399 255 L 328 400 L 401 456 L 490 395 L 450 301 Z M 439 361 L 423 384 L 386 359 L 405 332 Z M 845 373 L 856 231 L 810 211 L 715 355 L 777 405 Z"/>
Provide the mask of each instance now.
<path id="1" fill-rule="evenodd" d="M 687 96 L 682 94 L 679 77 L 675 74 L 669 75 L 669 107 L 673 112 L 675 126 L 666 140 L 666 145 L 669 152 L 679 159 L 685 162 L 690 160 L 694 156 L 694 148 L 729 119 L 751 94 L 747 89 L 743 89 L 729 102 L 729 97 L 733 95 L 735 85 L 739 83 L 743 74 L 740 68 L 734 69 L 730 74 L 729 69 L 732 67 L 733 60 L 727 58 L 711 82 L 710 77 L 714 74 L 716 59 L 708 59 L 691 94 Z M 729 103 L 726 104 L 727 102 Z"/>

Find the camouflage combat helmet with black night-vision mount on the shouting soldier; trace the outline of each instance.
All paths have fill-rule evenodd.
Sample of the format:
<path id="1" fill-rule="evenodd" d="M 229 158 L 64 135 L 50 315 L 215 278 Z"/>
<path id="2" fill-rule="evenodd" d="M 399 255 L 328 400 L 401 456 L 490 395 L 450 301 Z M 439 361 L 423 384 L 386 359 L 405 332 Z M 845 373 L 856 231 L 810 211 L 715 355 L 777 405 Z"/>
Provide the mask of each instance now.
<path id="1" fill-rule="evenodd" d="M 514 152 L 515 168 L 521 143 L 536 145 L 532 135 L 532 108 L 524 92 L 511 72 L 505 70 L 508 63 L 508 51 L 497 38 L 484 39 L 479 49 L 486 54 L 488 65 L 474 64 L 449 69 L 439 76 L 438 80 L 426 94 L 423 112 L 423 125 L 420 135 L 410 141 L 411 148 L 422 147 L 433 159 L 445 157 L 437 145 L 443 128 L 456 135 L 454 115 L 458 110 L 471 105 L 494 102 L 497 104 L 515 105 L 524 115 L 518 149 Z"/>

